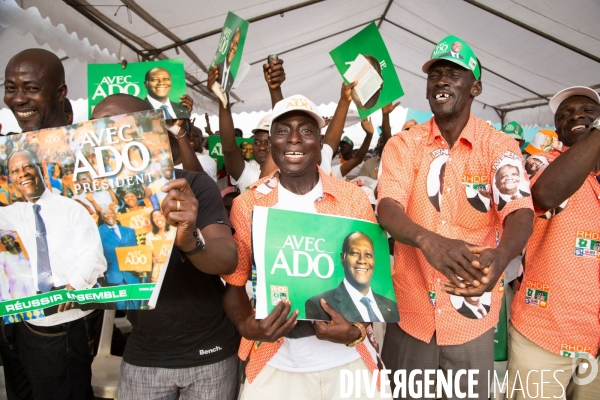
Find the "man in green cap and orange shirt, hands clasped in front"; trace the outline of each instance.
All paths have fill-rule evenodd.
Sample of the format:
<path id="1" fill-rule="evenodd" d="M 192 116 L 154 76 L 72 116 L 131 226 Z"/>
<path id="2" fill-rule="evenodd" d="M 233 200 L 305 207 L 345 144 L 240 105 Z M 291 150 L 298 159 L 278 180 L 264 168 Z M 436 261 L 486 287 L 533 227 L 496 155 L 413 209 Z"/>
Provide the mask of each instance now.
<path id="1" fill-rule="evenodd" d="M 463 57 L 444 55 L 458 41 Z M 533 220 L 531 196 L 502 199 L 496 171 L 515 167 L 518 189 L 527 194 L 529 181 L 518 144 L 471 115 L 482 83 L 469 45 L 445 38 L 423 72 L 434 117 L 393 136 L 383 151 L 378 212 L 396 240 L 400 323 L 388 324 L 382 356 L 387 368 L 407 370 L 407 376 L 413 370 L 441 370 L 446 377 L 450 370 L 478 370 L 474 393 L 487 399 L 503 292 L 498 280 L 525 247 Z M 481 191 L 487 192 L 480 200 L 485 204 L 476 208 L 469 199 Z M 447 397 L 466 394 L 466 374 L 456 378 L 460 388 L 452 385 Z"/>

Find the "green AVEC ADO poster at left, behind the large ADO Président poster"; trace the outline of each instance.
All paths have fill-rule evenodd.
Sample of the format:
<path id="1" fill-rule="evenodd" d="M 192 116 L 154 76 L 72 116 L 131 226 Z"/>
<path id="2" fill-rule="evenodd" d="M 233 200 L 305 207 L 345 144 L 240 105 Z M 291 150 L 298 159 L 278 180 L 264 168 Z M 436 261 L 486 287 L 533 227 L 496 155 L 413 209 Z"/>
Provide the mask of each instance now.
<path id="1" fill-rule="evenodd" d="M 130 94 L 161 109 L 165 119 L 189 118 L 181 104 L 187 93 L 185 70 L 181 58 L 121 64 L 88 64 L 88 117 L 106 96 Z"/>

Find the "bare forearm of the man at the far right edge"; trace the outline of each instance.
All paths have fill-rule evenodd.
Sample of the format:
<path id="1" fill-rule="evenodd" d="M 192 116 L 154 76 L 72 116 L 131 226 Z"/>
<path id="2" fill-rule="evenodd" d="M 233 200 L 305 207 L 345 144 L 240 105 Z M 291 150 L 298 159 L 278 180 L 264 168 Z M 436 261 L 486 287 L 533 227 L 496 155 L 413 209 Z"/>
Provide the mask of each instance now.
<path id="1" fill-rule="evenodd" d="M 540 174 L 531 188 L 533 204 L 545 210 L 558 207 L 579 190 L 590 172 L 598 171 L 599 161 L 600 131 L 591 129 Z"/>

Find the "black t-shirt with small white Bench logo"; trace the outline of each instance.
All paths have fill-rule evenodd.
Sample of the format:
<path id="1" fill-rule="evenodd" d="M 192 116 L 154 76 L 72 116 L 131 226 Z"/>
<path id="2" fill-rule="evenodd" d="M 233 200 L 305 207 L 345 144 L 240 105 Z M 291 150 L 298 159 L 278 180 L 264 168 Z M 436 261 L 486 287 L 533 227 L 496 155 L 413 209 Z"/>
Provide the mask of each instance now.
<path id="1" fill-rule="evenodd" d="M 196 226 L 231 227 L 221 193 L 205 173 L 176 171 L 198 199 Z M 225 286 L 216 275 L 199 271 L 173 248 L 156 303 L 149 311 L 128 311 L 133 331 L 123 359 L 141 367 L 189 368 L 213 364 L 235 354 L 240 336 L 223 309 Z"/>

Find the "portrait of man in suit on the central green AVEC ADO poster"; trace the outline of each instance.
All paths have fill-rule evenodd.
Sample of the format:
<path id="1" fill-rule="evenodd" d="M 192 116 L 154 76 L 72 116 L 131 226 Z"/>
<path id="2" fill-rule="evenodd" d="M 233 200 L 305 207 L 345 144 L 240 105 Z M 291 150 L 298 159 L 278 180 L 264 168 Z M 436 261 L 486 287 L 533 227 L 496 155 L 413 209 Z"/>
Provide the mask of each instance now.
<path id="1" fill-rule="evenodd" d="M 375 268 L 374 246 L 362 232 L 346 236 L 340 254 L 344 280 L 337 288 L 311 297 L 306 301 L 306 318 L 329 321 L 320 299 L 353 322 L 398 322 L 398 307 L 392 300 L 371 289 Z M 387 256 L 387 254 L 385 255 Z"/>

